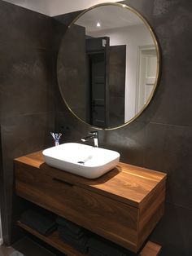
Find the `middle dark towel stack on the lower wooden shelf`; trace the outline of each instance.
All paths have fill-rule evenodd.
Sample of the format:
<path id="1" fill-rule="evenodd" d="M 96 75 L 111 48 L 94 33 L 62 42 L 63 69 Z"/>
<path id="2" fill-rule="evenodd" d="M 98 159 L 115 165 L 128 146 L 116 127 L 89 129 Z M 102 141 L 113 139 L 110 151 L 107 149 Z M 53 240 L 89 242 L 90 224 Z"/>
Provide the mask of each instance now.
<path id="1" fill-rule="evenodd" d="M 72 245 L 82 254 L 86 254 L 88 251 L 88 236 L 86 236 L 84 229 L 66 218 L 58 217 L 56 223 L 58 223 L 60 240 Z"/>

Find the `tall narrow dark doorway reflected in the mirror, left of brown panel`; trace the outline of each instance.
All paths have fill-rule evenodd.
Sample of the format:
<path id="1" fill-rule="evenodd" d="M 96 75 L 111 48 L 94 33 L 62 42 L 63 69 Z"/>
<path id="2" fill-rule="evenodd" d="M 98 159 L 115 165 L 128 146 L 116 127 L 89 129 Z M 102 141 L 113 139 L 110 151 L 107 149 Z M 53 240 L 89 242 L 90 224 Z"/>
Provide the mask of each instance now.
<path id="1" fill-rule="evenodd" d="M 87 87 L 89 88 L 89 123 L 92 126 L 109 125 L 109 38 L 87 38 Z"/>

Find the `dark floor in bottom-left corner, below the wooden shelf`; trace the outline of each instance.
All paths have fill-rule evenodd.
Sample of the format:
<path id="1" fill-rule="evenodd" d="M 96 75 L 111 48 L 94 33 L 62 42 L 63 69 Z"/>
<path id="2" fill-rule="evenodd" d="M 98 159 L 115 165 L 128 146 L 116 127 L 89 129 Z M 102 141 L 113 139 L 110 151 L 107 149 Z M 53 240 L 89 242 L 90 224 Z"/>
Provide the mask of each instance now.
<path id="1" fill-rule="evenodd" d="M 38 245 L 37 242 L 28 237 L 15 242 L 11 247 L 0 246 L 0 256 L 10 256 L 14 251 L 18 251 L 24 256 L 56 256 L 56 254 L 52 254 L 48 249 Z M 14 256 L 17 256 L 17 254 L 15 253 Z"/>

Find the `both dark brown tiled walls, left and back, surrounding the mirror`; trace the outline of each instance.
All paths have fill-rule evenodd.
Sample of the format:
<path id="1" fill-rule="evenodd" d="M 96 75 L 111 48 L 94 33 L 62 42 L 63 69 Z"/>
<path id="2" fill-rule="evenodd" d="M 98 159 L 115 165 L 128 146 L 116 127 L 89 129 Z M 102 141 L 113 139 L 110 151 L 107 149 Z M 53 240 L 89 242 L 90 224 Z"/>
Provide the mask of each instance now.
<path id="1" fill-rule="evenodd" d="M 190 0 L 125 1 L 150 22 L 159 38 L 162 72 L 158 90 L 142 116 L 119 130 L 100 130 L 100 145 L 120 152 L 121 161 L 168 173 L 164 218 L 151 234 L 162 255 L 191 255 L 192 73 Z M 71 15 L 59 17 L 67 23 Z M 90 130 L 63 105 L 52 81 L 64 29 L 45 15 L 0 1 L 0 198 L 4 240 L 11 232 L 12 158 L 50 145 L 49 131 L 63 142 L 80 142 Z M 55 51 L 51 37 L 55 36 Z M 56 88 L 54 89 L 53 86 Z M 56 112 L 54 95 L 57 96 Z M 5 193 L 6 192 L 6 193 Z"/>

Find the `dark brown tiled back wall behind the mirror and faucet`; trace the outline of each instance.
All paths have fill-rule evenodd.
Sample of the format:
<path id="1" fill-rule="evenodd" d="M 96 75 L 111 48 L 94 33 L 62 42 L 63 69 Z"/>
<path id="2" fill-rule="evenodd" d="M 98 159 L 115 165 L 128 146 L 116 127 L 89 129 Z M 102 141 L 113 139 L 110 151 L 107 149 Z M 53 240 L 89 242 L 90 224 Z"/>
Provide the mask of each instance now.
<path id="1" fill-rule="evenodd" d="M 101 130 L 100 145 L 119 151 L 121 161 L 168 174 L 164 218 L 151 234 L 151 241 L 163 245 L 161 255 L 190 256 L 192 3 L 190 0 L 131 0 L 125 3 L 146 17 L 159 38 L 161 77 L 155 97 L 142 116 L 119 130 Z M 71 17 L 65 15 L 63 20 L 69 22 Z M 61 16 L 59 18 L 62 20 Z M 80 142 L 90 128 L 72 117 L 57 93 L 56 119 L 58 129 L 65 133 L 63 142 Z"/>

